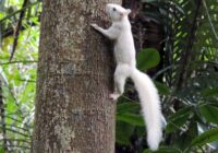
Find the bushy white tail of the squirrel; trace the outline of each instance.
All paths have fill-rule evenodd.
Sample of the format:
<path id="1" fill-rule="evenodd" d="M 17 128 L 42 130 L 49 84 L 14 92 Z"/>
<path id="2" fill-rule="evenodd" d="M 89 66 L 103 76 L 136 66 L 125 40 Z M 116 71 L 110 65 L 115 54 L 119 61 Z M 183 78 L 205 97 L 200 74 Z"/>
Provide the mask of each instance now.
<path id="1" fill-rule="evenodd" d="M 133 70 L 131 79 L 135 84 L 141 101 L 147 129 L 147 143 L 150 150 L 155 151 L 158 149 L 162 137 L 162 114 L 158 92 L 152 79 L 137 69 Z"/>

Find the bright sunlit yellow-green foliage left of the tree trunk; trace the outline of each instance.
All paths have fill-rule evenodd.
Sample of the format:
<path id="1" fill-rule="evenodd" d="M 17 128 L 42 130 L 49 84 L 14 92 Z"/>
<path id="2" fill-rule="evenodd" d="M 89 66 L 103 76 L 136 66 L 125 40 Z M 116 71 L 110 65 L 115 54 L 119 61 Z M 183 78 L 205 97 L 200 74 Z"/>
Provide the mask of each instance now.
<path id="1" fill-rule="evenodd" d="M 0 152 L 29 152 L 39 40 L 40 4 L 0 1 Z M 25 15 L 21 19 L 21 12 Z M 22 20 L 21 26 L 19 22 Z M 19 31 L 19 33 L 17 33 Z M 16 33 L 15 33 L 16 32 Z M 17 45 L 15 45 L 17 42 Z M 14 52 L 13 59 L 10 57 Z"/>

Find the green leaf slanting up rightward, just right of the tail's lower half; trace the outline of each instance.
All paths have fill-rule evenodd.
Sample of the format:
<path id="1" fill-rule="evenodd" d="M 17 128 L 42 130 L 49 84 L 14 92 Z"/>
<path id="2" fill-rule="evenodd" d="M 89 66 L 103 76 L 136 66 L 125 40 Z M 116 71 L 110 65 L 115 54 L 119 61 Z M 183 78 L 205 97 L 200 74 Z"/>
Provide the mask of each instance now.
<path id="1" fill-rule="evenodd" d="M 169 117 L 166 132 L 170 133 L 175 130 L 179 130 L 180 127 L 182 127 L 186 122 L 187 118 L 190 117 L 191 110 L 192 110 L 191 107 L 186 107 L 171 115 Z"/>

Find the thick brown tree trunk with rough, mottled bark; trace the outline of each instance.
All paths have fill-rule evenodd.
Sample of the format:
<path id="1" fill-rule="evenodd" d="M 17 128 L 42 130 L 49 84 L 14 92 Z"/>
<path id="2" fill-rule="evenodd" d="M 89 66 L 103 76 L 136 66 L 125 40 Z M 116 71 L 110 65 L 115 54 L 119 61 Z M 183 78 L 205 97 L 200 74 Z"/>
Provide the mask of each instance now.
<path id="1" fill-rule="evenodd" d="M 114 152 L 112 51 L 89 26 L 108 2 L 43 1 L 33 153 Z"/>

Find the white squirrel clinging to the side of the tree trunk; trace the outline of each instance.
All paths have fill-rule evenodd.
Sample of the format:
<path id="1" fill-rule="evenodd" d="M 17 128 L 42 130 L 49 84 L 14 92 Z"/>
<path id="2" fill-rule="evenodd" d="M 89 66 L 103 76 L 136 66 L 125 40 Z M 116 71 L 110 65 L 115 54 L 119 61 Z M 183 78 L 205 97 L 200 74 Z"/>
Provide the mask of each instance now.
<path id="1" fill-rule="evenodd" d="M 147 127 L 147 143 L 150 150 L 155 151 L 158 149 L 162 137 L 160 101 L 150 78 L 136 69 L 134 40 L 128 19 L 130 12 L 130 9 L 109 3 L 106 5 L 106 13 L 111 19 L 112 25 L 108 30 L 104 30 L 96 24 L 90 25 L 104 36 L 114 40 L 117 68 L 114 72 L 114 92 L 110 94 L 110 98 L 117 101 L 124 92 L 126 78 L 133 80 Z"/>

